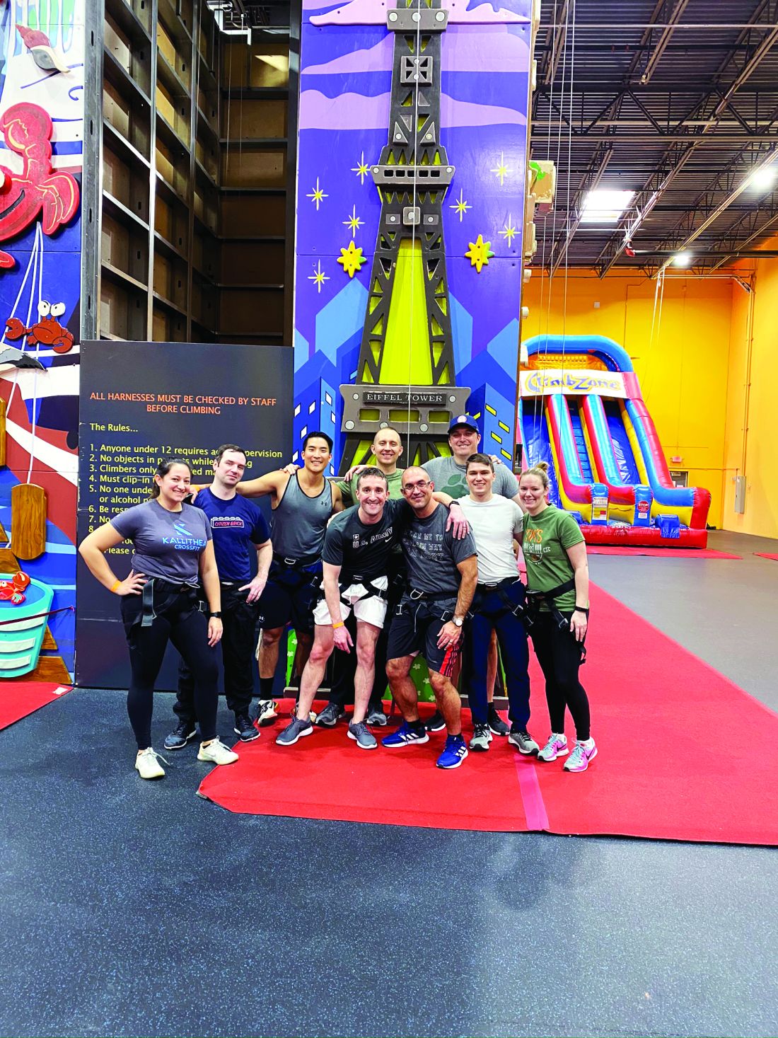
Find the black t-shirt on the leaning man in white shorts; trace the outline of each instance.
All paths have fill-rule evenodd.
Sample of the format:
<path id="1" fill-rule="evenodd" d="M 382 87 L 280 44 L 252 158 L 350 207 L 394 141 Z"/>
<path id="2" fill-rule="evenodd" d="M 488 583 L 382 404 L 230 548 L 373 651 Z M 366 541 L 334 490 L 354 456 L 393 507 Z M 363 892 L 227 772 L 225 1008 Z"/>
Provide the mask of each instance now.
<path id="1" fill-rule="evenodd" d="M 387 500 L 378 522 L 364 523 L 359 506 L 336 515 L 325 534 L 322 559 L 339 566 L 339 583 L 348 586 L 354 577 L 373 580 L 389 572 L 389 556 L 413 511 L 406 501 Z"/>

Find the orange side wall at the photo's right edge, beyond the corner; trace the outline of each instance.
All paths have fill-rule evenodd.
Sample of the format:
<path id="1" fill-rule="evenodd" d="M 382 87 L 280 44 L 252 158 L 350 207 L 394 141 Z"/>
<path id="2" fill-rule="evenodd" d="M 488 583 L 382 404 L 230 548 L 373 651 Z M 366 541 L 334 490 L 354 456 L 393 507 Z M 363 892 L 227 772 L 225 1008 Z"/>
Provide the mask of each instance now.
<path id="1" fill-rule="evenodd" d="M 768 245 L 775 248 L 775 242 Z M 753 267 L 753 293 L 732 290 L 724 527 L 778 538 L 778 260 L 759 260 Z M 746 511 L 739 515 L 733 477 L 744 473 Z"/>

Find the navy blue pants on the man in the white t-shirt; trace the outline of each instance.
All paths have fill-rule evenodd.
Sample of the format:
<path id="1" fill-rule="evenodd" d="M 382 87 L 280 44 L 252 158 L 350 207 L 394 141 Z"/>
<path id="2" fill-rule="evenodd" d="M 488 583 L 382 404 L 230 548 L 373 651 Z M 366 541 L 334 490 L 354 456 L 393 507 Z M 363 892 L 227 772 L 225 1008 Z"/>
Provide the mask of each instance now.
<path id="1" fill-rule="evenodd" d="M 468 691 L 474 725 L 485 725 L 489 719 L 487 705 L 487 660 L 492 641 L 492 631 L 497 631 L 505 684 L 508 693 L 508 717 L 518 729 L 526 729 L 529 721 L 529 648 L 527 632 L 521 619 L 508 607 L 524 605 L 526 589 L 522 581 L 506 581 L 497 588 L 478 586 L 471 606 L 473 617 L 467 624 L 466 645 L 468 660 Z M 507 601 L 506 601 L 507 600 Z"/>

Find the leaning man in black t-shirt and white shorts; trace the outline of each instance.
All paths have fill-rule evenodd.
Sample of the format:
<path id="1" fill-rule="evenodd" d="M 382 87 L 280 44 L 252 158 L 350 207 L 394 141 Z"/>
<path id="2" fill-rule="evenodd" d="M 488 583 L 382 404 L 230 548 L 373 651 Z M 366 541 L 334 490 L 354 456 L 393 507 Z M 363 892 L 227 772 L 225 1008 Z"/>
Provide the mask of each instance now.
<path id="1" fill-rule="evenodd" d="M 335 516 L 325 535 L 324 599 L 313 611 L 313 648 L 300 681 L 297 710 L 276 739 L 281 746 L 291 746 L 313 731 L 310 709 L 327 660 L 335 647 L 342 652 L 355 648 L 344 623 L 352 609 L 357 618 L 357 673 L 349 738 L 361 749 L 378 746 L 364 718 L 372 688 L 376 641 L 386 617 L 389 554 L 404 517 L 412 513 L 405 501 L 389 500 L 386 475 L 378 468 L 360 473 L 356 497 L 358 504 Z"/>

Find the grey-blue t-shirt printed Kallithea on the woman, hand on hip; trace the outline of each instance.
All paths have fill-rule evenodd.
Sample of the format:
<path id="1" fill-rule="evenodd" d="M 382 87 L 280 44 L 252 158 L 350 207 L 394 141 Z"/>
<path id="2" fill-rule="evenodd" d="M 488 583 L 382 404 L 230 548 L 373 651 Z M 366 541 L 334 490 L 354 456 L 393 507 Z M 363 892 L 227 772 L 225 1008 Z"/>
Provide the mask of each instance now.
<path id="1" fill-rule="evenodd" d="M 135 551 L 130 565 L 146 577 L 172 583 L 197 583 L 200 555 L 212 539 L 205 513 L 193 504 L 168 512 L 157 498 L 111 519 L 111 525 Z"/>

